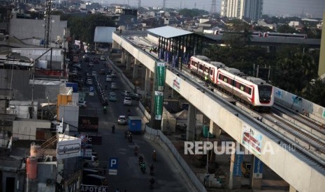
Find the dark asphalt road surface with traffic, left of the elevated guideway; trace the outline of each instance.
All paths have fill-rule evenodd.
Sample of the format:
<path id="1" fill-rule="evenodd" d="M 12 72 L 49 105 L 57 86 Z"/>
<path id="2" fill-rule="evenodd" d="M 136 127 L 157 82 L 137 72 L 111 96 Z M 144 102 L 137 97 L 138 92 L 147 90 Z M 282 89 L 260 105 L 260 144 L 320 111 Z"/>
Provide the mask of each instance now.
<path id="1" fill-rule="evenodd" d="M 94 55 L 90 55 L 93 57 Z M 100 55 L 96 55 L 100 57 Z M 92 58 L 91 58 L 92 59 Z M 96 71 L 101 79 L 102 87 L 106 84 L 106 75 L 99 74 L 102 69 L 108 69 L 107 61 L 99 61 L 95 64 L 92 70 L 82 63 L 82 72 Z M 180 172 L 180 168 L 171 160 L 168 153 L 164 151 L 157 143 L 153 143 L 143 137 L 143 135 L 133 135 L 133 141 L 129 143 L 124 138 L 124 131 L 127 130 L 127 125 L 117 125 L 119 115 L 127 115 L 127 110 L 131 110 L 131 115 L 136 115 L 137 102 L 133 100 L 131 106 L 124 106 L 122 90 L 125 89 L 124 83 L 120 79 L 120 74 L 117 72 L 117 77 L 113 78 L 113 82 L 117 83 L 117 102 L 109 102 L 108 111 L 103 113 L 103 106 L 96 91 L 94 96 L 87 95 L 87 108 L 80 109 L 80 114 L 94 115 L 99 117 L 99 132 L 102 136 L 102 144 L 95 145 L 94 150 L 98 153 L 100 166 L 104 168 L 108 166 L 110 158 L 117 158 L 117 175 L 109 175 L 108 170 L 104 171 L 108 178 L 109 191 L 194 191 L 187 183 L 187 179 Z M 110 83 L 107 83 L 108 87 Z M 87 86 L 85 86 L 87 88 Z M 88 88 L 87 88 L 88 89 Z M 106 95 L 112 91 L 110 88 L 106 90 Z M 115 134 L 111 133 L 112 125 L 115 125 Z M 144 157 L 147 164 L 146 173 L 140 171 L 138 157 L 133 153 L 135 146 L 138 146 L 138 157 Z M 152 152 L 157 151 L 157 162 L 152 162 Z M 154 189 L 150 189 L 149 166 L 154 164 Z"/>

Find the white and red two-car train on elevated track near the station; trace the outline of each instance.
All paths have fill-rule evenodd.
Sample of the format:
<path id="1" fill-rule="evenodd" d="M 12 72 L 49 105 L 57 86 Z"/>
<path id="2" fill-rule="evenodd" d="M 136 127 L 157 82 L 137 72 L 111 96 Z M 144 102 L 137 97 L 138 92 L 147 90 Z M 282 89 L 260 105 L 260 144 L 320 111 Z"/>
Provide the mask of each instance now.
<path id="1" fill-rule="evenodd" d="M 240 70 L 226 67 L 224 63 L 210 61 L 206 56 L 192 56 L 189 69 L 192 74 L 202 79 L 208 76 L 213 86 L 254 110 L 268 112 L 273 106 L 273 86 L 262 79 L 245 76 Z"/>

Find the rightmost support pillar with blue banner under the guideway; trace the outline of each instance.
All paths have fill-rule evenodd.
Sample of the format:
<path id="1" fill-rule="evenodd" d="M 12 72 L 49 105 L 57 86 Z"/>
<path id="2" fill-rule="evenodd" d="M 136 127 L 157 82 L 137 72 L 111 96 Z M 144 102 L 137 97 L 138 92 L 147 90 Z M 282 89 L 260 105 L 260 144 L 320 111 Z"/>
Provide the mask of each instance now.
<path id="1" fill-rule="evenodd" d="M 252 186 L 252 189 L 261 189 L 263 177 L 263 162 L 257 157 L 253 157 L 251 174 L 252 177 L 250 177 L 250 186 Z"/>

